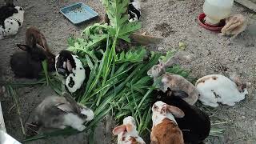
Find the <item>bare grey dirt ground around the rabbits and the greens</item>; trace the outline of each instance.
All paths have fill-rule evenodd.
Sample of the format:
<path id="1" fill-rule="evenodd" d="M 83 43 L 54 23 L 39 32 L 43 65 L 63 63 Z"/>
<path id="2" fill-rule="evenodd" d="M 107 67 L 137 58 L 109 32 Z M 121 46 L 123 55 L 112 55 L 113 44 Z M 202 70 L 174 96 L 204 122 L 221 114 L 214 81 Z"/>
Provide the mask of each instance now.
<path id="1" fill-rule="evenodd" d="M 82 26 L 73 26 L 59 13 L 60 8 L 72 2 L 84 2 L 99 14 L 99 18 Z M 0 5 L 3 0 L 0 0 Z M 0 41 L 0 67 L 5 80 L 13 79 L 10 70 L 10 55 L 18 48 L 17 43 L 24 43 L 26 27 L 37 26 L 56 54 L 67 48 L 66 38 L 70 34 L 80 34 L 88 25 L 100 22 L 103 7 L 98 0 L 18 0 L 17 6 L 22 6 L 25 21 L 17 35 Z M 191 71 L 191 75 L 200 78 L 206 74 L 240 74 L 247 82 L 251 82 L 249 96 L 237 105 L 219 106 L 212 118 L 218 118 L 225 125 L 226 132 L 218 138 L 210 138 L 207 143 L 248 143 L 256 142 L 256 15 L 250 14 L 242 6 L 235 4 L 233 14 L 246 16 L 249 26 L 234 41 L 198 26 L 197 16 L 202 13 L 203 0 L 148 0 L 142 2 L 142 29 L 156 36 L 163 36 L 164 42 L 151 49 L 166 52 L 178 48 L 178 42 L 186 44 L 185 50 L 180 50 L 182 67 Z M 26 81 L 22 79 L 21 81 Z M 34 107 L 47 95 L 54 94 L 47 87 L 27 87 L 18 90 L 18 101 L 23 123 L 26 124 Z M 0 98 L 6 121 L 7 132 L 18 140 L 22 140 L 22 129 L 12 98 Z M 111 131 L 102 122 L 98 126 L 95 139 L 98 144 L 110 143 Z M 30 143 L 86 143 L 86 134 L 70 137 L 48 138 Z"/>

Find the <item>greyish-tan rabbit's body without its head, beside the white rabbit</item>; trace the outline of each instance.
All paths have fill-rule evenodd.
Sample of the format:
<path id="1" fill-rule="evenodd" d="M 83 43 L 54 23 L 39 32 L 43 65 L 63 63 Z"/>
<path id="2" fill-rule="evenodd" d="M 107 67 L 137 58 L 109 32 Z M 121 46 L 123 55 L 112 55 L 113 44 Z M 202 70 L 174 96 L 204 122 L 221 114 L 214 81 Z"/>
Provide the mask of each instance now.
<path id="1" fill-rule="evenodd" d="M 189 96 L 183 98 L 184 101 L 188 102 L 190 105 L 194 105 L 198 101 L 198 90 L 196 87 L 178 74 L 163 74 L 160 84 L 160 90 L 166 92 L 168 88 L 170 90 L 182 90 L 186 92 Z"/>

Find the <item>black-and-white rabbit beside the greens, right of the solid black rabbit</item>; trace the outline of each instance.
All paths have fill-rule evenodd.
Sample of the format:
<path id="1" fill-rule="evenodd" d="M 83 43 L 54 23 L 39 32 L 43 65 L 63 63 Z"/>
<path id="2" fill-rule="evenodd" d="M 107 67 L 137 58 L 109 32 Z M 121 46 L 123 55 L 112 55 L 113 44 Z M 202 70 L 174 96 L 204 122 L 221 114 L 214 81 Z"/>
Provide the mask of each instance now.
<path id="1" fill-rule="evenodd" d="M 70 93 L 80 89 L 86 79 L 86 70 L 78 56 L 68 50 L 62 50 L 55 58 L 55 69 L 64 77 L 63 83 Z"/>

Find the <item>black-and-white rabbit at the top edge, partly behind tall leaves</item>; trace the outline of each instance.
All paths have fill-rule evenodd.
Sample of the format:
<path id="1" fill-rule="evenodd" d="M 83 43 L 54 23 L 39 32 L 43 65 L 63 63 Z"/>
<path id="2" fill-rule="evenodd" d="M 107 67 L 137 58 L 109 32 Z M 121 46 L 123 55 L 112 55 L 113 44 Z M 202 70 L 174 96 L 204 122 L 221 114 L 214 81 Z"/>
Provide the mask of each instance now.
<path id="1" fill-rule="evenodd" d="M 136 22 L 141 17 L 141 4 L 139 0 L 130 0 L 128 5 L 128 20 L 129 22 Z"/>

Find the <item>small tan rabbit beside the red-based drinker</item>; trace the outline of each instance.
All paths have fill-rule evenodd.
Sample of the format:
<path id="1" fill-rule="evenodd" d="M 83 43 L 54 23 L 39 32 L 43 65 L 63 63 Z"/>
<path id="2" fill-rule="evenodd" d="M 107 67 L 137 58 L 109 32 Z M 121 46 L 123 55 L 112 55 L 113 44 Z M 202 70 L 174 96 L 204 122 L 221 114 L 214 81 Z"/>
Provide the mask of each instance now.
<path id="1" fill-rule="evenodd" d="M 222 35 L 233 35 L 231 38 L 235 38 L 246 30 L 246 26 L 246 18 L 242 14 L 234 14 L 226 18 L 226 25 L 222 27 Z"/>

